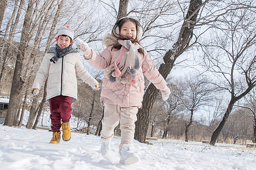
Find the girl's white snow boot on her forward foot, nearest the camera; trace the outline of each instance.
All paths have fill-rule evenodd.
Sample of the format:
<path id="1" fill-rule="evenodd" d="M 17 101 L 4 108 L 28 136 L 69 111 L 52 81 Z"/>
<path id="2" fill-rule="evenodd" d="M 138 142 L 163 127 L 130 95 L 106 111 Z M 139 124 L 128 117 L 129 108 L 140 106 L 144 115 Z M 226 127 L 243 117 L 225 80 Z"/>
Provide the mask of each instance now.
<path id="1" fill-rule="evenodd" d="M 137 154 L 134 153 L 133 145 L 131 144 L 123 144 L 119 154 L 121 156 L 119 163 L 121 164 L 130 165 L 137 163 L 139 160 Z"/>

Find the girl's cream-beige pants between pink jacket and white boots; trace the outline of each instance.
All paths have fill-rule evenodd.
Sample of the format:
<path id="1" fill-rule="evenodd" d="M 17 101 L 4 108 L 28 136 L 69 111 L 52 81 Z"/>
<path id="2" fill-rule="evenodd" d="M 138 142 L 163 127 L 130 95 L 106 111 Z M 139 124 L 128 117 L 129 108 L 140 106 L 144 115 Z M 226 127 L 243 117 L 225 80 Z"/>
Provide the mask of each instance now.
<path id="1" fill-rule="evenodd" d="M 133 144 L 137 112 L 138 107 L 123 108 L 117 104 L 105 104 L 101 137 L 105 139 L 112 138 L 114 135 L 114 128 L 120 121 L 121 146 L 123 144 Z"/>

